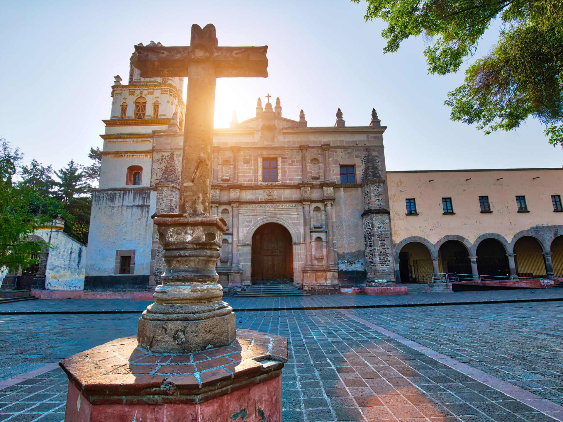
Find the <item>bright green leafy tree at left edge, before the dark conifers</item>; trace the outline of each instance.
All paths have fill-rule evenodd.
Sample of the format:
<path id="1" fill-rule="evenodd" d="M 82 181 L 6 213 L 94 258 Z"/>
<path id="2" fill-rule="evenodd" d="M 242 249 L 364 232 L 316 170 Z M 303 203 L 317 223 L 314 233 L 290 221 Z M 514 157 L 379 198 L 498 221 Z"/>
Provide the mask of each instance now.
<path id="1" fill-rule="evenodd" d="M 0 268 L 8 270 L 36 263 L 34 254 L 44 247 L 43 242 L 28 239 L 42 222 L 29 212 L 34 191 L 27 186 L 12 186 L 8 181 L 22 158 L 19 149 L 0 139 Z"/>

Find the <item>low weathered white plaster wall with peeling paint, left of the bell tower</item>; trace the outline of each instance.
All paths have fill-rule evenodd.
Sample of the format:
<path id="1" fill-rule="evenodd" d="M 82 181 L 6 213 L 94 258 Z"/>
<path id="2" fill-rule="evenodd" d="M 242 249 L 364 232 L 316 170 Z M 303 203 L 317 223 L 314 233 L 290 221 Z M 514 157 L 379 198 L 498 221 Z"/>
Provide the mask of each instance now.
<path id="1" fill-rule="evenodd" d="M 62 230 L 38 230 L 34 234 L 51 245 L 45 271 L 45 289 L 84 289 L 86 246 Z"/>

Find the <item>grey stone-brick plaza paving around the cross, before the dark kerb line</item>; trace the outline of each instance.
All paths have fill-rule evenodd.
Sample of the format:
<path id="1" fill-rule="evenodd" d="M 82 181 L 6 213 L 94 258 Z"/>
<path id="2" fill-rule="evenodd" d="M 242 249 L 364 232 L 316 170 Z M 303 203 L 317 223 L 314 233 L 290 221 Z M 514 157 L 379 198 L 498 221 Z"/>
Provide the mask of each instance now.
<path id="1" fill-rule="evenodd" d="M 354 318 L 555 404 L 563 396 L 562 307 L 562 302 L 533 302 L 239 312 L 237 325 L 289 339 L 283 371 L 285 422 L 541 422 L 555 419 Z M 0 381 L 135 335 L 137 318 L 3 315 Z M 0 389 L 0 421 L 61 421 L 65 386 L 57 369 Z"/>

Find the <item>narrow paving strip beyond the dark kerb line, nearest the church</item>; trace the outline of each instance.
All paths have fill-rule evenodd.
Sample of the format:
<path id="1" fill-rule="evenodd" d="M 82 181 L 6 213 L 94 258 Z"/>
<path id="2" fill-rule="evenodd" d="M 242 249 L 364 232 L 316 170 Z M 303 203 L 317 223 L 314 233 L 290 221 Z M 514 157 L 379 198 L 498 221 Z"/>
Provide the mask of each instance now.
<path id="1" fill-rule="evenodd" d="M 428 303 L 483 302 L 490 300 L 563 299 L 563 288 L 537 290 L 458 291 L 391 296 L 327 295 L 297 297 L 226 298 L 235 311 L 244 309 L 300 309 L 354 306 L 403 306 Z M 12 311 L 144 311 L 152 302 L 128 299 L 29 300 L 0 304 Z"/>

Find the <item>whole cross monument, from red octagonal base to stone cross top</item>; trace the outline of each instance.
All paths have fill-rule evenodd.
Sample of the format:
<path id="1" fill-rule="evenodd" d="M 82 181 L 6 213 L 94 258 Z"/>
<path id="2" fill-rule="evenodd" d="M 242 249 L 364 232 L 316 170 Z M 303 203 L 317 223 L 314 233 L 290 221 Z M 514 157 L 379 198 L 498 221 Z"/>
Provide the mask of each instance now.
<path id="1" fill-rule="evenodd" d="M 287 339 L 239 330 L 215 269 L 226 222 L 209 216 L 215 83 L 267 77 L 267 47 L 218 47 L 215 26 L 191 28 L 188 47 L 135 46 L 142 77 L 188 77 L 180 213 L 157 214 L 162 285 L 137 339 L 61 361 L 66 422 L 280 421 Z"/>

